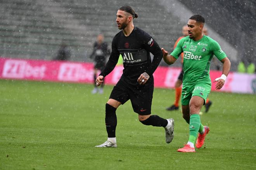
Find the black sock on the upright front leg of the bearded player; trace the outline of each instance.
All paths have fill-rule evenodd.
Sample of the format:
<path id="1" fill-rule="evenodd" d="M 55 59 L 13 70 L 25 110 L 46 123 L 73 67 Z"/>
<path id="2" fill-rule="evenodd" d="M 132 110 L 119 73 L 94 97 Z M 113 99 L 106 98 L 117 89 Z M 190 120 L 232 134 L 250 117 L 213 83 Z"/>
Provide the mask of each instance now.
<path id="1" fill-rule="evenodd" d="M 107 137 L 114 138 L 116 137 L 116 108 L 113 106 L 106 104 L 106 117 L 105 117 L 106 129 L 107 129 Z"/>

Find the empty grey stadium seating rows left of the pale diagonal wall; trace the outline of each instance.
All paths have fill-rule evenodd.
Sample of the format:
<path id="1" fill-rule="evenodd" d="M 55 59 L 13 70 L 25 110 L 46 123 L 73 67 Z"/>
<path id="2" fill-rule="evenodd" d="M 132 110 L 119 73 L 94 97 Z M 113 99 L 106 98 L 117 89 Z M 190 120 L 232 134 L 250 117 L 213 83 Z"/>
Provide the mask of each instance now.
<path id="1" fill-rule="evenodd" d="M 116 12 L 123 5 L 131 5 L 138 13 L 135 26 L 171 50 L 185 23 L 163 12 L 156 1 L 1 0 L 0 56 L 52 59 L 65 42 L 71 49 L 72 61 L 90 61 L 88 56 L 97 34 L 103 33 L 110 45 L 119 31 Z"/>

